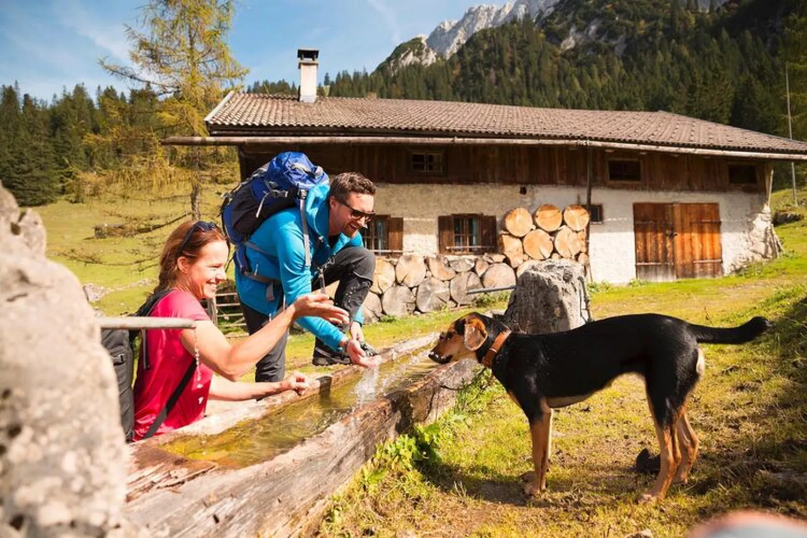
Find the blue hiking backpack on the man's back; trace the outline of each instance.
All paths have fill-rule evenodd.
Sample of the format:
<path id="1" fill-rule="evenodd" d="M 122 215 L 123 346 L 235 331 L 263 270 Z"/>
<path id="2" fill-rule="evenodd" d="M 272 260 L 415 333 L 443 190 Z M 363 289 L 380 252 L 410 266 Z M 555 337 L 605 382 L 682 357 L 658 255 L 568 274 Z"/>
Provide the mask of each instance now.
<path id="1" fill-rule="evenodd" d="M 261 251 L 257 245 L 249 243 L 249 236 L 271 215 L 293 206 L 299 206 L 303 215 L 306 267 L 311 265 L 304 215 L 305 198 L 308 190 L 322 183 L 328 183 L 328 174 L 320 166 L 314 165 L 305 153 L 282 152 L 255 170 L 235 189 L 224 194 L 221 223 L 228 240 L 235 247 L 233 256 L 237 269 L 245 274 L 250 273 L 242 248 L 245 244 Z"/>

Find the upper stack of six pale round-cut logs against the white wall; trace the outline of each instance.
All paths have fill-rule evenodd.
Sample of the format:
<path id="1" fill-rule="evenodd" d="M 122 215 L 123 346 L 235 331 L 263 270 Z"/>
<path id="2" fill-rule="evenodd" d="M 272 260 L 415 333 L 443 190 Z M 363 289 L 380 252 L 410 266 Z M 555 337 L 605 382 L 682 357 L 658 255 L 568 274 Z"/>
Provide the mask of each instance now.
<path id="1" fill-rule="evenodd" d="M 586 227 L 588 211 L 583 206 L 544 204 L 530 213 L 516 207 L 502 219 L 499 252 L 508 265 L 520 267 L 529 260 L 576 260 L 588 263 Z"/>

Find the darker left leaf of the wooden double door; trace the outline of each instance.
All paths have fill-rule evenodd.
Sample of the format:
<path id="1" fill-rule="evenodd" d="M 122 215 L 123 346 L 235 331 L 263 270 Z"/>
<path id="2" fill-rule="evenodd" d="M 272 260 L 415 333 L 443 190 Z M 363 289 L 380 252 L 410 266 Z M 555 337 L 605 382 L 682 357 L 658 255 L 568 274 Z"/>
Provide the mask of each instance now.
<path id="1" fill-rule="evenodd" d="M 636 277 L 639 280 L 675 280 L 672 216 L 671 204 L 633 204 Z"/>

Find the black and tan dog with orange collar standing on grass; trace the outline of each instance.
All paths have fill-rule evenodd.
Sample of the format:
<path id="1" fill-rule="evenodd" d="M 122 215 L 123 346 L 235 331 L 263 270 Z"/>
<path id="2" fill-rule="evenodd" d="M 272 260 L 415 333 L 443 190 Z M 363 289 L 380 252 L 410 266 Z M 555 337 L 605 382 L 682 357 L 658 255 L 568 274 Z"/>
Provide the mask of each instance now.
<path id="1" fill-rule="evenodd" d="M 527 415 L 535 473 L 527 494 L 546 488 L 552 409 L 582 402 L 623 373 L 645 379 L 647 402 L 661 452 L 652 489 L 639 498 L 664 498 L 670 483 L 685 482 L 698 452 L 687 419 L 687 398 L 704 372 L 698 344 L 742 344 L 771 323 L 756 317 L 733 328 L 693 325 L 657 314 L 621 315 L 548 335 L 511 333 L 495 319 L 466 315 L 442 333 L 429 353 L 441 364 L 475 358 L 491 368 Z"/>

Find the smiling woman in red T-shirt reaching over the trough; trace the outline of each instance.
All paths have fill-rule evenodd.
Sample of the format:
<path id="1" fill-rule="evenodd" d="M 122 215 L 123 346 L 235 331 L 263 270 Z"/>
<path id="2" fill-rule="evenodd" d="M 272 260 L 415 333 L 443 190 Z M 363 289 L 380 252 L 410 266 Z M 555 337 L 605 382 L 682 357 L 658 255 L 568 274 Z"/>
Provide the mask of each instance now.
<path id="1" fill-rule="evenodd" d="M 196 328 L 148 331 L 144 344 L 148 362 L 141 353 L 134 387 L 134 440 L 202 419 L 208 398 L 232 402 L 285 390 L 302 392 L 308 386 L 302 373 L 291 373 L 280 382 L 247 383 L 238 379 L 274 348 L 295 319 L 315 315 L 332 323 L 348 323 L 348 313 L 328 302 L 327 295 L 307 294 L 258 332 L 231 345 L 199 303 L 200 299 L 215 297 L 216 286 L 227 278 L 224 266 L 228 256 L 227 240 L 215 223 L 182 223 L 165 241 L 160 282 L 154 291 L 168 293 L 157 301 L 150 315 L 193 319 Z M 190 382 L 178 393 L 160 423 L 157 417 L 186 373 L 192 376 Z"/>

